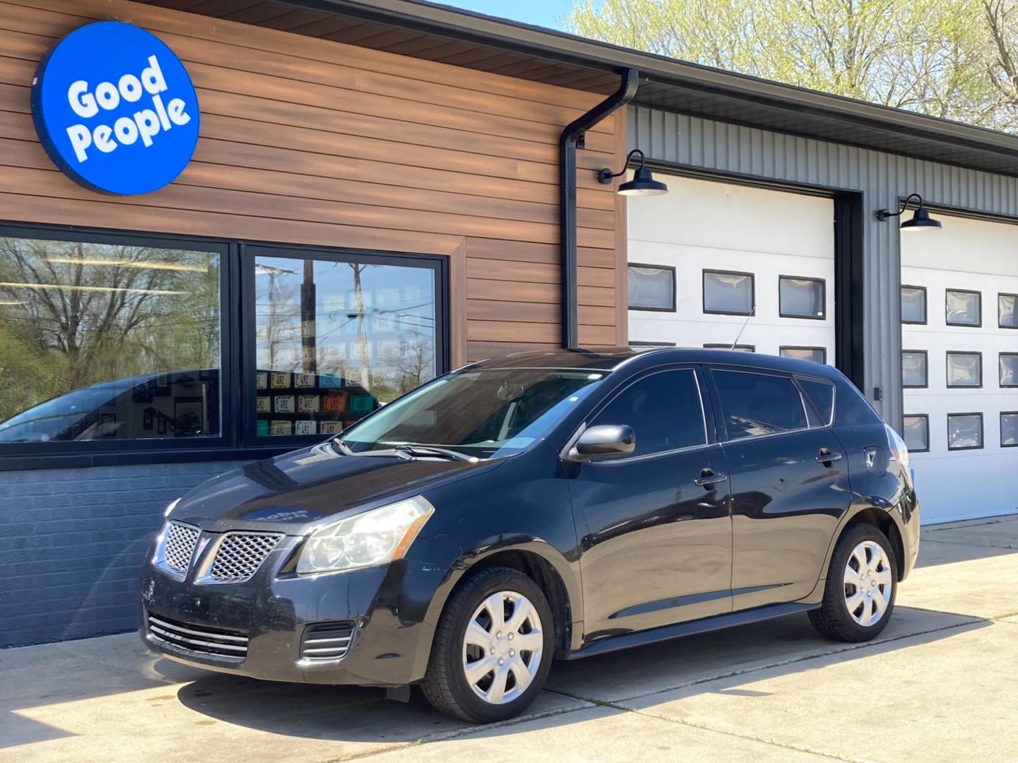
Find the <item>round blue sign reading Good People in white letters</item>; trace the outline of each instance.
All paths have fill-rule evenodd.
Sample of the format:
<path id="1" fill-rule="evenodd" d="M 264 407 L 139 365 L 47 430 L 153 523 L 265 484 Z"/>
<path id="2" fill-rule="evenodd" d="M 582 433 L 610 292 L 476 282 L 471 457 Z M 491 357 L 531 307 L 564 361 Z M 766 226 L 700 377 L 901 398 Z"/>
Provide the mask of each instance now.
<path id="1" fill-rule="evenodd" d="M 32 85 L 50 159 L 92 190 L 132 195 L 179 175 L 197 143 L 199 106 L 183 64 L 159 38 L 97 21 L 61 40 Z"/>

